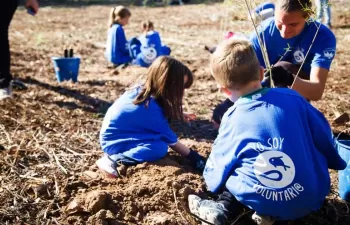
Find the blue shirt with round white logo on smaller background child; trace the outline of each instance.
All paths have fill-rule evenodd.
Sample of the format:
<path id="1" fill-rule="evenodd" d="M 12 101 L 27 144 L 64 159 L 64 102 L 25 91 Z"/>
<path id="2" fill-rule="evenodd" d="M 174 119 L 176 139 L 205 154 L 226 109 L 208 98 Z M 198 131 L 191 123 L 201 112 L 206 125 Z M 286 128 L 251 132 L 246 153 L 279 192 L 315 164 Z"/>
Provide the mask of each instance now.
<path id="1" fill-rule="evenodd" d="M 139 37 L 141 53 L 136 58 L 136 64 L 148 67 L 158 57 L 165 55 L 163 52 L 160 35 L 157 31 L 149 31 Z"/>

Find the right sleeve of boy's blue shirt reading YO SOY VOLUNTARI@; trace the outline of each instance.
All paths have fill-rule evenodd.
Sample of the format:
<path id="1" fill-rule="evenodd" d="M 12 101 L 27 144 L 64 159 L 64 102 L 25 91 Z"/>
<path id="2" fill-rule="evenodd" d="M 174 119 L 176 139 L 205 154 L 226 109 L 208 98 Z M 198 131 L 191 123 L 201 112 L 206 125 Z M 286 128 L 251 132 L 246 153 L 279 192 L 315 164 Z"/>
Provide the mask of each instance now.
<path id="1" fill-rule="evenodd" d="M 317 150 L 326 158 L 328 168 L 343 170 L 346 162 L 340 157 L 335 148 L 335 140 L 331 127 L 324 115 L 311 104 L 307 104 L 309 127 Z"/>

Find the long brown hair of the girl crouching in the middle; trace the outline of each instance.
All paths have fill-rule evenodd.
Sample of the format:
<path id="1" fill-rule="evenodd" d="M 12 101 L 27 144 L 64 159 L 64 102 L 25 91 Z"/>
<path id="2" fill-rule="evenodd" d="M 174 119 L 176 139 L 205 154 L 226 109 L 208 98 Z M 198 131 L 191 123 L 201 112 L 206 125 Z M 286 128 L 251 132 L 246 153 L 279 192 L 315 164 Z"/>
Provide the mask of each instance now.
<path id="1" fill-rule="evenodd" d="M 193 75 L 187 66 L 169 56 L 158 57 L 149 67 L 145 85 L 133 103 L 147 106 L 152 96 L 168 119 L 182 120 L 184 90 L 191 87 L 192 83 Z"/>

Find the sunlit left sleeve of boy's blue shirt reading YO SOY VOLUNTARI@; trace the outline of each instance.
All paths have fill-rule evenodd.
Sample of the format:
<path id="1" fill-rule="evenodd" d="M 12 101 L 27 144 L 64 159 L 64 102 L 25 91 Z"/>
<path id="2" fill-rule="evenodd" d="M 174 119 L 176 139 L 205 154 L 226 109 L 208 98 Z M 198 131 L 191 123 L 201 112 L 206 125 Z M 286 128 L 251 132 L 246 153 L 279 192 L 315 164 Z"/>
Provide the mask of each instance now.
<path id="1" fill-rule="evenodd" d="M 224 124 L 227 124 L 225 118 L 221 122 L 219 135 L 213 144 L 203 172 L 208 190 L 214 193 L 224 187 L 237 162 L 232 126 Z"/>

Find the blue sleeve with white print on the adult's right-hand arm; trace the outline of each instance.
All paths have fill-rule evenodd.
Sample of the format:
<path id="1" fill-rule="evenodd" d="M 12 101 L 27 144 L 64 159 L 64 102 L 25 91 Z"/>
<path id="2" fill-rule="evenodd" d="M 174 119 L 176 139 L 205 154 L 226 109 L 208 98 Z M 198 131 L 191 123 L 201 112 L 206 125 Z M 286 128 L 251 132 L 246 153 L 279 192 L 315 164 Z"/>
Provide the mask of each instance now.
<path id="1" fill-rule="evenodd" d="M 315 42 L 314 46 L 316 48 L 311 67 L 320 67 L 329 70 L 336 50 L 336 39 L 334 34 L 331 33 L 325 37 L 320 35 L 319 41 Z"/>

